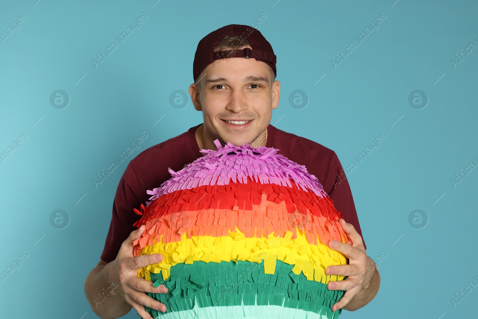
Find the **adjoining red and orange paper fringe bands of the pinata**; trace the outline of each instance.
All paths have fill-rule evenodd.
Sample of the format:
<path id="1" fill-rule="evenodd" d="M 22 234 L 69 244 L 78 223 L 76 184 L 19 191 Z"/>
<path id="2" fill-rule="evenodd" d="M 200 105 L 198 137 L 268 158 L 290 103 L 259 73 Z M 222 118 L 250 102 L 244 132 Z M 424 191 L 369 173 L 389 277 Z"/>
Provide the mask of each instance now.
<path id="1" fill-rule="evenodd" d="M 248 177 L 249 178 L 249 177 Z M 312 192 L 275 184 L 230 183 L 227 186 L 202 186 L 178 190 L 155 199 L 149 206 L 135 209 L 142 218 L 134 223 L 146 225 L 139 248 L 152 245 L 157 234 L 163 242 L 177 242 L 184 233 L 191 235 L 227 236 L 236 227 L 247 238 L 283 237 L 285 231 L 301 228 L 309 243 L 317 244 L 317 235 L 324 244 L 330 239 L 348 243 L 338 220 L 342 214 L 330 198 Z"/>

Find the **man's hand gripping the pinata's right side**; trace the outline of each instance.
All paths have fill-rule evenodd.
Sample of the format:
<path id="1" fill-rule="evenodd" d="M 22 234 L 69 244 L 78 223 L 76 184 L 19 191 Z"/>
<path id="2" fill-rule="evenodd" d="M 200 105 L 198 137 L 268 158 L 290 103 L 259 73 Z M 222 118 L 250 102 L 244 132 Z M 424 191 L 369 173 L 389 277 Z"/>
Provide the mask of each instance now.
<path id="1" fill-rule="evenodd" d="M 339 219 L 338 222 L 352 244 L 329 240 L 328 247 L 348 257 L 348 264 L 332 265 L 326 268 L 326 275 L 347 276 L 340 281 L 329 281 L 327 289 L 346 290 L 344 296 L 332 306 L 332 311 L 344 308 L 360 290 L 367 288 L 376 271 L 373 261 L 367 257 L 362 237 L 352 224 Z"/>

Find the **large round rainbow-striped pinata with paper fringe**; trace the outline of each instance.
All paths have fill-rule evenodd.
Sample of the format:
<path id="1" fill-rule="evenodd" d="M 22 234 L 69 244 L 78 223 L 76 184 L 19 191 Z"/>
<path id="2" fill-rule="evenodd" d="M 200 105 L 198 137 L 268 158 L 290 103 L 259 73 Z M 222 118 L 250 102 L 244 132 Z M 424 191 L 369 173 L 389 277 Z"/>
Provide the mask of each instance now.
<path id="1" fill-rule="evenodd" d="M 277 149 L 249 144 L 201 150 L 152 195 L 134 225 L 146 225 L 134 256 L 162 253 L 138 276 L 164 284 L 148 295 L 166 305 L 153 318 L 331 319 L 345 293 L 328 290 L 333 264 L 347 264 L 327 247 L 348 242 L 338 212 L 318 179 Z"/>

